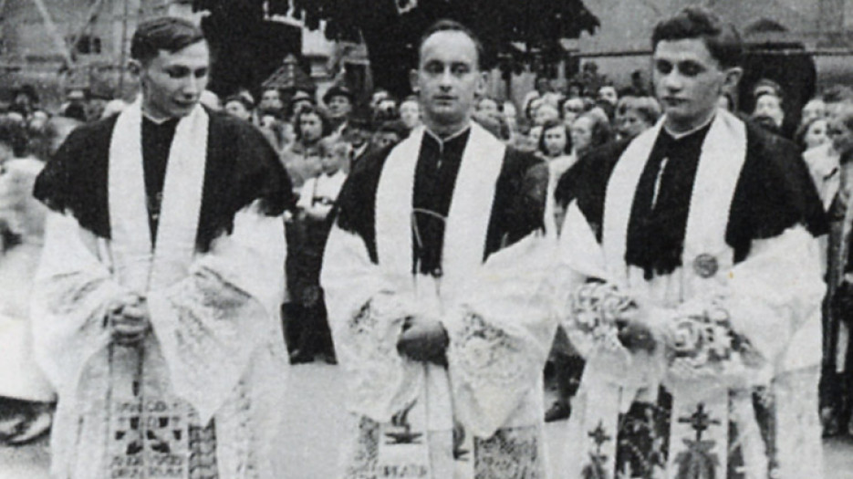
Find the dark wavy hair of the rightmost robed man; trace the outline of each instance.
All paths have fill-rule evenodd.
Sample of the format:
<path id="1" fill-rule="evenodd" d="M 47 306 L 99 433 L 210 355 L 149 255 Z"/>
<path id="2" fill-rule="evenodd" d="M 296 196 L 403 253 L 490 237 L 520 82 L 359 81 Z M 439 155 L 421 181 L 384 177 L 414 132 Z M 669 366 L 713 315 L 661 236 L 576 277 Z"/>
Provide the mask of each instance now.
<path id="1" fill-rule="evenodd" d="M 651 47 L 658 47 L 658 43 L 664 40 L 693 38 L 702 39 L 721 67 L 733 68 L 741 64 L 744 46 L 737 30 L 702 6 L 688 6 L 674 16 L 661 20 L 651 34 Z"/>

